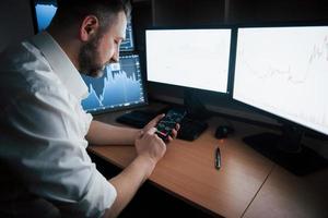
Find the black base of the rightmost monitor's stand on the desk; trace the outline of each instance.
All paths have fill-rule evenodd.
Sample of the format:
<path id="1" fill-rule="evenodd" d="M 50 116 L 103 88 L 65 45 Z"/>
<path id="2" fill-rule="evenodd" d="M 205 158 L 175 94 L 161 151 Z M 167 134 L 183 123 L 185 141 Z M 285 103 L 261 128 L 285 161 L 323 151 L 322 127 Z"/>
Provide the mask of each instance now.
<path id="1" fill-rule="evenodd" d="M 273 162 L 296 175 L 306 175 L 328 167 L 328 160 L 301 144 L 302 133 L 284 126 L 283 134 L 261 133 L 244 142 Z"/>

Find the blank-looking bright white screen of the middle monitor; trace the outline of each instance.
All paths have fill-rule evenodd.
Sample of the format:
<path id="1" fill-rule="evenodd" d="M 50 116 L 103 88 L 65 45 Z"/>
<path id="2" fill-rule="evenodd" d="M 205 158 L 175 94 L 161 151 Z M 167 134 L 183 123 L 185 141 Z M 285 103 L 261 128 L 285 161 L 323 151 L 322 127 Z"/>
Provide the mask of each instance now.
<path id="1" fill-rule="evenodd" d="M 148 81 L 227 93 L 231 29 L 148 29 Z"/>

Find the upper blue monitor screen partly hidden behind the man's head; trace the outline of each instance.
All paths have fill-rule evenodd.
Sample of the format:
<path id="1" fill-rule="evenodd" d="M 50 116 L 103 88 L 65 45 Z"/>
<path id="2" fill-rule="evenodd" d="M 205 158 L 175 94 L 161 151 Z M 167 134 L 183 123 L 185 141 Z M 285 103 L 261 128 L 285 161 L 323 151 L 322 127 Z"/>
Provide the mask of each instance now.
<path id="1" fill-rule="evenodd" d="M 42 32 L 48 27 L 52 17 L 55 16 L 57 11 L 57 0 L 35 0 L 34 10 L 37 32 Z M 119 50 L 134 50 L 132 24 L 130 20 L 127 24 L 126 39 L 121 43 Z"/>

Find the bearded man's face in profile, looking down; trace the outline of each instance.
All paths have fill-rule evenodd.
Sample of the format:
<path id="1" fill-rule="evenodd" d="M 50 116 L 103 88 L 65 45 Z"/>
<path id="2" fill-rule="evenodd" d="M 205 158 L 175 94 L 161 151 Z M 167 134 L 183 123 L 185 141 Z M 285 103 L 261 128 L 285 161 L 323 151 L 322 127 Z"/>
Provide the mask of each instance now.
<path id="1" fill-rule="evenodd" d="M 79 53 L 81 73 L 101 77 L 106 64 L 119 61 L 119 46 L 126 37 L 127 17 L 120 12 L 115 21 L 105 33 L 97 32 L 81 47 Z"/>

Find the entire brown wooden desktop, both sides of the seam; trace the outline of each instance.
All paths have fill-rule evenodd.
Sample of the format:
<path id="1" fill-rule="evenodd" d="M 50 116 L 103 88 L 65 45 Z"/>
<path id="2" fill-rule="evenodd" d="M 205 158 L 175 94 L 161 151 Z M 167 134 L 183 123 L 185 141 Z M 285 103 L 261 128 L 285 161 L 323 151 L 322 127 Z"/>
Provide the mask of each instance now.
<path id="1" fill-rule="evenodd" d="M 115 123 L 114 120 L 118 114 L 120 112 L 102 116 L 97 120 Z M 213 215 L 262 217 L 262 213 L 266 211 L 266 208 L 269 208 L 272 211 L 270 214 L 272 217 L 280 217 L 283 214 L 280 214 L 280 205 L 277 203 L 277 201 L 280 201 L 279 189 L 282 186 L 283 191 L 289 191 L 289 185 L 285 187 L 283 184 L 292 186 L 298 178 L 293 179 L 293 175 L 289 172 L 245 146 L 242 137 L 245 134 L 259 132 L 259 128 L 237 123 L 235 124 L 235 133 L 219 142 L 213 135 L 215 126 L 220 123 L 224 123 L 224 121 L 219 118 L 211 119 L 209 129 L 196 141 L 175 140 L 167 145 L 167 152 L 154 169 L 150 181 L 174 196 L 201 207 Z M 222 155 L 220 170 L 214 168 L 216 146 L 220 147 Z M 89 150 L 120 168 L 128 166 L 136 157 L 133 146 L 90 146 Z M 326 175 L 328 175 L 328 170 L 326 171 Z M 327 177 L 323 175 L 323 178 Z M 301 179 L 298 180 L 301 181 Z M 327 179 L 324 180 L 327 181 Z M 325 185 L 325 182 L 320 185 Z M 306 185 L 303 186 L 307 189 Z M 271 196 L 271 193 L 273 193 L 273 196 Z M 297 198 L 298 195 L 293 195 L 296 190 L 284 193 L 292 194 L 292 197 L 286 194 L 288 201 L 284 198 L 286 203 L 293 204 L 293 201 L 300 199 Z M 312 197 L 317 196 L 312 191 L 307 193 L 311 193 Z M 327 195 L 325 196 L 327 199 Z M 296 198 L 293 199 L 293 197 Z M 304 197 L 301 199 L 303 201 Z M 325 206 L 327 205 L 324 205 L 320 197 L 315 197 L 315 199 L 320 203 L 319 206 L 313 204 L 311 207 L 313 206 L 312 208 L 315 211 L 321 211 L 319 215 L 325 214 L 327 211 Z M 277 204 L 271 205 L 271 202 Z M 298 208 L 301 215 L 308 215 L 306 213 L 312 210 L 307 208 L 308 210 L 304 213 L 303 210 L 306 208 L 301 208 L 298 204 L 292 207 L 290 205 L 282 207 L 286 210 L 289 208 Z M 293 214 L 293 211 L 290 211 L 289 215 L 300 217 L 297 213 Z"/>

